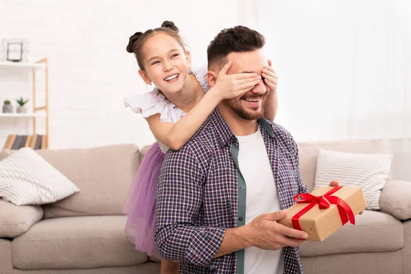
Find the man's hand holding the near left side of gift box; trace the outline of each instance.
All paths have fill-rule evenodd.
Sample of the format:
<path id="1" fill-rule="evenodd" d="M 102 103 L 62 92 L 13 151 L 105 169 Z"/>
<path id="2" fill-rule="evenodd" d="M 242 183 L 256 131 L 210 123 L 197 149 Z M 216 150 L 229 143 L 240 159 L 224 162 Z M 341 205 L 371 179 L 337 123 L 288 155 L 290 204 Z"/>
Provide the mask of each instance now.
<path id="1" fill-rule="evenodd" d="M 245 225 L 245 239 L 248 247 L 277 250 L 282 247 L 298 247 L 303 242 L 297 238 L 308 238 L 306 232 L 286 227 L 275 221 L 284 219 L 287 211 L 277 211 L 257 216 Z"/>

